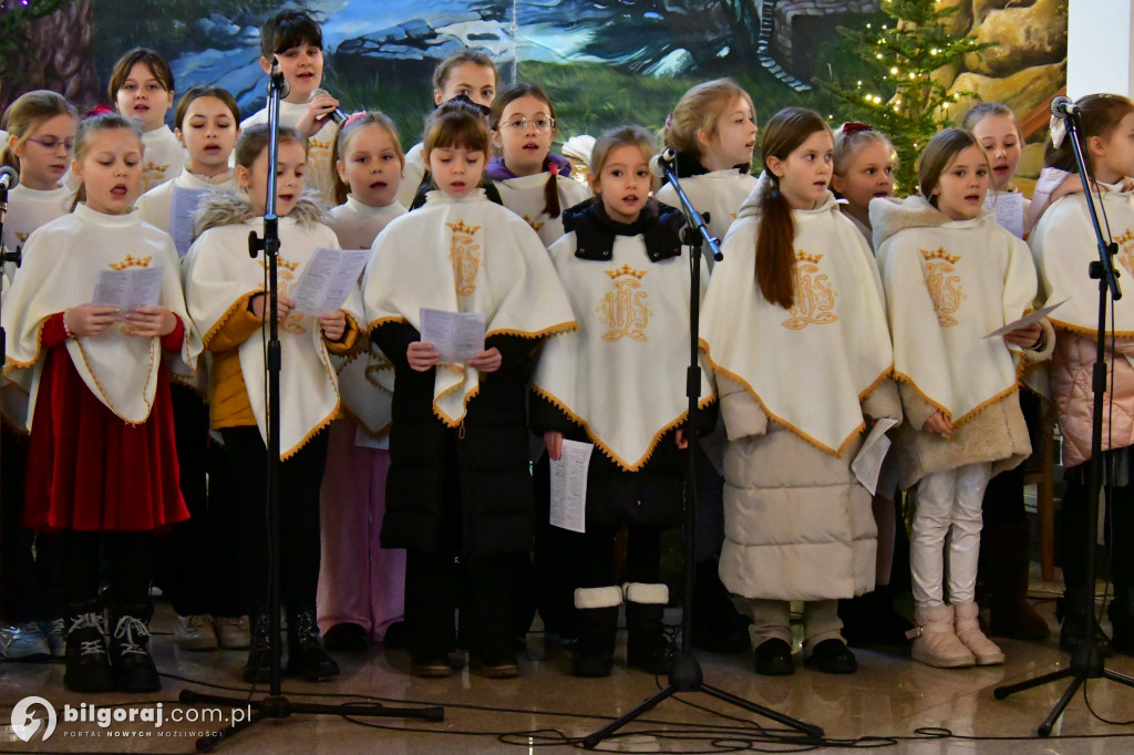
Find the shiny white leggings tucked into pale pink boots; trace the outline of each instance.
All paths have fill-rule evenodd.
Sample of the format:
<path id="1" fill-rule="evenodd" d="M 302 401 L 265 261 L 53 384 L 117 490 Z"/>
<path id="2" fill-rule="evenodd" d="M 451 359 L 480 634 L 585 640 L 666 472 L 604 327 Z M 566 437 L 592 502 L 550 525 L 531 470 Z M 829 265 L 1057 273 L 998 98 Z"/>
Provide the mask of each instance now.
<path id="1" fill-rule="evenodd" d="M 945 604 L 947 535 L 949 602 L 973 601 L 981 548 L 981 503 L 991 474 L 992 465 L 982 461 L 926 475 L 917 484 L 917 512 L 909 543 L 909 569 L 917 608 Z"/>

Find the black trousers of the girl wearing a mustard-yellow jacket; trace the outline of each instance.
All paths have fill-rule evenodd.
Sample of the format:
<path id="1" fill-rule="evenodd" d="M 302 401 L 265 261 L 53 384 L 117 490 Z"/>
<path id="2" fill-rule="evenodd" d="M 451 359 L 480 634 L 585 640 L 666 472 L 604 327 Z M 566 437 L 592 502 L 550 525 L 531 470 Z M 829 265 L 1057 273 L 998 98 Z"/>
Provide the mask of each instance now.
<path id="1" fill-rule="evenodd" d="M 269 537 L 264 487 L 268 449 L 256 427 L 221 431 L 232 474 L 232 507 L 243 551 L 244 612 L 268 604 Z M 319 588 L 319 487 L 327 463 L 323 430 L 279 465 L 280 601 L 291 612 L 314 611 Z"/>

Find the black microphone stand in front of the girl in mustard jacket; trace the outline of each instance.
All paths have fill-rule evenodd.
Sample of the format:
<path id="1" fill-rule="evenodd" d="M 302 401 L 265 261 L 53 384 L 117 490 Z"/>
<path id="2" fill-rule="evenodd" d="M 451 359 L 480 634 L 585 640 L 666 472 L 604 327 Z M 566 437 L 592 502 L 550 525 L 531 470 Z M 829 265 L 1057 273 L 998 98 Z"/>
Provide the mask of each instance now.
<path id="1" fill-rule="evenodd" d="M 268 483 L 264 491 L 268 507 L 268 620 L 269 620 L 269 693 L 261 701 L 223 695 L 204 695 L 193 689 L 183 689 L 178 695 L 181 703 L 220 704 L 232 709 L 248 706 L 255 712 L 247 721 L 205 735 L 196 740 L 197 752 L 208 752 L 248 727 L 265 719 L 286 719 L 293 713 L 316 715 L 367 715 L 382 718 L 415 718 L 426 721 L 443 721 L 445 709 L 440 706 L 422 709 L 387 709 L 376 702 L 352 702 L 340 705 L 316 703 L 293 703 L 280 688 L 280 540 L 279 540 L 279 466 L 280 466 L 280 370 L 282 357 L 279 339 L 279 312 L 277 311 L 279 258 L 279 218 L 276 215 L 276 164 L 279 155 L 280 100 L 287 96 L 287 82 L 279 65 L 272 60 L 272 71 L 268 79 L 268 194 L 264 207 L 264 236 L 248 231 L 248 254 L 255 260 L 263 252 L 268 258 Z"/>

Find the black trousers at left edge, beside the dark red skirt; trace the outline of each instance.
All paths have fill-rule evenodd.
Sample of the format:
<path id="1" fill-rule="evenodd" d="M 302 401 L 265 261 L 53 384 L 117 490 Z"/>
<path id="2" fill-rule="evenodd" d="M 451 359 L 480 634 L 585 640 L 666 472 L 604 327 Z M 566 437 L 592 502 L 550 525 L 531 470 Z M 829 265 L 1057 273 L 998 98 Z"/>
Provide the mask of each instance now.
<path id="1" fill-rule="evenodd" d="M 60 537 L 24 526 L 28 436 L 7 425 L 0 433 L 0 616 L 12 623 L 58 619 L 67 613 Z"/>

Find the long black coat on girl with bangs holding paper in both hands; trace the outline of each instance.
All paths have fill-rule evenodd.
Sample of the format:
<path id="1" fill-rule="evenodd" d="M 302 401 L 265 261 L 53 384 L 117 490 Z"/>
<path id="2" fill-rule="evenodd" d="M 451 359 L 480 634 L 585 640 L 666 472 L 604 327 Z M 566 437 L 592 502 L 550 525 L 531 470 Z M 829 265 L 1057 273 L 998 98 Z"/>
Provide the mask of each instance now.
<path id="1" fill-rule="evenodd" d="M 416 372 L 406 360 L 409 343 L 421 340 L 417 330 L 386 323 L 371 337 L 395 365 L 382 546 L 443 555 L 456 533 L 460 555 L 531 550 L 525 366 L 540 341 L 486 340 L 485 348 L 500 350 L 500 370 L 481 376 L 464 423 L 454 429 L 433 413 L 435 371 Z M 458 510 L 459 521 L 446 520 Z"/>

